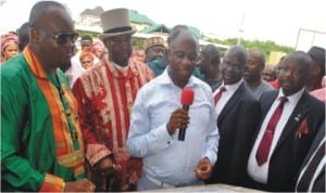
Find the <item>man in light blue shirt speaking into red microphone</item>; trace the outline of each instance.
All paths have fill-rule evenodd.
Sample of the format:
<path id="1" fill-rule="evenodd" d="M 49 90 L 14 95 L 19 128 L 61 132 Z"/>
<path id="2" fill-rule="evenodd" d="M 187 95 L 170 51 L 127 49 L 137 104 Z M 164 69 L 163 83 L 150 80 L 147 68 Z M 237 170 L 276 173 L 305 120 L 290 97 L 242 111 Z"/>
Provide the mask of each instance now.
<path id="1" fill-rule="evenodd" d="M 167 42 L 168 66 L 139 90 L 131 112 L 127 147 L 143 158 L 138 191 L 203 184 L 216 162 L 220 137 L 212 91 L 191 76 L 198 39 L 186 26 L 176 26 Z M 183 94 L 190 99 L 184 103 L 188 111 Z M 184 139 L 178 138 L 180 128 Z"/>

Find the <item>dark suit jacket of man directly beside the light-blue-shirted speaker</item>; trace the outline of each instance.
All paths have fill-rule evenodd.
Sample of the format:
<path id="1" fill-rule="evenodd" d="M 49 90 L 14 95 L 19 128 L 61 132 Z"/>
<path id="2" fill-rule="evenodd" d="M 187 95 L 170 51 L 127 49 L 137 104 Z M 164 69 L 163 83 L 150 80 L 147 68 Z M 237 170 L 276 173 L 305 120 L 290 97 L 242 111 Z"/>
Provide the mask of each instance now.
<path id="1" fill-rule="evenodd" d="M 242 82 L 218 115 L 217 162 L 208 183 L 243 184 L 250 146 L 260 117 L 260 102 Z"/>

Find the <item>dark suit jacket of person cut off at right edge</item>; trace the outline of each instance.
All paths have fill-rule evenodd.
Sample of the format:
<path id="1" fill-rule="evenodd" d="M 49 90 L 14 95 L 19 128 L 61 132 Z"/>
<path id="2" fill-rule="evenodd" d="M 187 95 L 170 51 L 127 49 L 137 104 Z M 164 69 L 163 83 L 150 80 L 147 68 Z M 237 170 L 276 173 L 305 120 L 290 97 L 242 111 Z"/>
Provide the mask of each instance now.
<path id="1" fill-rule="evenodd" d="M 317 150 L 318 145 L 321 144 L 321 141 L 324 138 L 325 138 L 325 121 L 319 127 L 318 132 L 316 133 L 316 137 L 315 137 L 311 147 L 309 149 L 308 154 L 305 155 L 305 158 L 300 167 L 300 172 L 298 173 L 298 177 L 300 176 L 300 173 L 302 172 L 302 169 L 306 166 L 309 159 L 313 156 L 314 152 Z M 297 180 L 297 182 L 298 181 L 299 181 L 299 179 Z M 308 191 L 308 190 L 305 190 L 305 191 Z M 323 167 L 321 173 L 314 181 L 312 192 L 325 192 L 325 167 Z"/>

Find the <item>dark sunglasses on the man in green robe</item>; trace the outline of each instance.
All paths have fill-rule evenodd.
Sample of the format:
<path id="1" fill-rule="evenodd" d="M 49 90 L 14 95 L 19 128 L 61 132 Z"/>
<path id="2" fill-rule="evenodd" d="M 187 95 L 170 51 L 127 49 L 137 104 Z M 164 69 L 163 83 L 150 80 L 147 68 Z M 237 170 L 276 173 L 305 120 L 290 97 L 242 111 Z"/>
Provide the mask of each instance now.
<path id="1" fill-rule="evenodd" d="M 53 33 L 51 30 L 36 27 L 36 26 L 32 26 L 32 27 L 36 28 L 37 30 L 40 30 L 47 36 L 51 36 L 57 41 L 58 44 L 65 44 L 67 41 L 75 43 L 78 38 L 78 33 L 61 34 L 61 33 Z"/>

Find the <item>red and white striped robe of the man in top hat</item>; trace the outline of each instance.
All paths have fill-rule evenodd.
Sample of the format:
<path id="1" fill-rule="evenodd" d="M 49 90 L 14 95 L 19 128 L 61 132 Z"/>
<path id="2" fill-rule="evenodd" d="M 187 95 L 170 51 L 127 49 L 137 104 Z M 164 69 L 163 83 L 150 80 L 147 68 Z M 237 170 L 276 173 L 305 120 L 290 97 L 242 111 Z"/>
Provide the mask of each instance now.
<path id="1" fill-rule="evenodd" d="M 130 111 L 139 88 L 153 77 L 153 72 L 141 62 L 130 60 L 129 67 L 118 68 L 103 60 L 83 74 L 73 88 L 79 103 L 87 158 L 93 165 L 112 152 L 122 166 L 124 191 L 137 183 L 142 166 L 139 158 L 130 158 L 126 149 Z M 97 154 L 99 151 L 101 154 Z"/>

